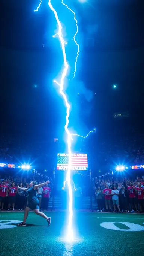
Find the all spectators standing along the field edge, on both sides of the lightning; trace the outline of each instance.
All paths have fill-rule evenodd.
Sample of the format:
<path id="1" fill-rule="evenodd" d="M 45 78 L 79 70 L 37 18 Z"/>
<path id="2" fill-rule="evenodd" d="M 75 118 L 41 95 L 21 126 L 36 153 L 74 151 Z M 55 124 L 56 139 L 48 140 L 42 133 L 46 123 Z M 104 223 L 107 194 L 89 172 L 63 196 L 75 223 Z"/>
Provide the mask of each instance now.
<path id="1" fill-rule="evenodd" d="M 19 187 L 29 187 L 30 181 L 34 180 L 37 184 L 43 183 L 41 175 L 30 175 L 27 177 L 0 177 L 0 210 L 24 210 L 27 206 L 27 192 L 19 189 Z M 39 208 L 41 210 L 48 210 L 49 198 L 51 191 L 56 189 L 52 183 L 52 178 L 49 177 L 50 183 L 44 187 L 37 189 L 37 198 L 39 199 Z M 99 179 L 95 178 L 93 183 L 93 195 L 98 205 L 97 212 L 144 212 L 144 176 L 137 177 L 135 181 L 131 179 Z M 72 183 L 73 184 L 73 183 Z M 74 185 L 74 184 L 73 184 Z M 75 184 L 74 186 L 74 202 L 75 208 L 82 207 L 81 202 L 84 200 L 86 194 L 84 184 Z M 56 192 L 56 191 L 55 191 Z M 63 208 L 67 208 L 67 194 L 68 186 L 62 189 L 59 193 L 61 200 L 63 200 Z"/>

